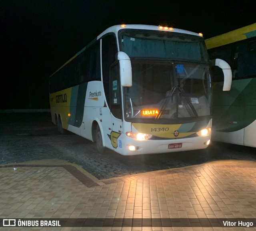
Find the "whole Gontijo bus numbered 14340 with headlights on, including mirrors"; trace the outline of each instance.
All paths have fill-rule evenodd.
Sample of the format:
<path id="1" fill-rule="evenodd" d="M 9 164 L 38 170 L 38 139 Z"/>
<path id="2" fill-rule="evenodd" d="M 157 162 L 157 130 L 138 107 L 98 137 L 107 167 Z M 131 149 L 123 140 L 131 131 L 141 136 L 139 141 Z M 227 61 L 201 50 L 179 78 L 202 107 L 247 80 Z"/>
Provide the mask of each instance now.
<path id="1" fill-rule="evenodd" d="M 231 79 L 230 69 L 223 72 Z M 49 84 L 52 122 L 62 133 L 96 142 L 100 153 L 176 152 L 210 143 L 212 87 L 202 34 L 112 26 L 52 74 Z"/>

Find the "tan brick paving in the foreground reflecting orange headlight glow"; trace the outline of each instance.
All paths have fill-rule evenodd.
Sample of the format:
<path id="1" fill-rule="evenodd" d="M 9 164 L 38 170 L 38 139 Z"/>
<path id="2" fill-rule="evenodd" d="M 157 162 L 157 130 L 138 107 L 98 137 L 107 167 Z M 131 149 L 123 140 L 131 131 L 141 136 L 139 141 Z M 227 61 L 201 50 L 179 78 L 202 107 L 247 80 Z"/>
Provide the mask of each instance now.
<path id="1" fill-rule="evenodd" d="M 3 230 L 240 231 L 256 227 L 256 163 L 252 161 L 225 160 L 97 180 L 66 161 L 41 160 L 2 165 L 0 179 L 1 218 L 107 218 L 110 222 L 108 227 Z M 129 225 L 124 218 L 136 222 Z M 221 227 L 222 221 L 235 218 L 253 221 L 255 227 Z M 169 220 L 176 221 L 170 222 L 174 227 L 162 227 Z M 127 227 L 122 227 L 124 221 Z M 148 221 L 155 226 L 146 227 L 143 223 Z"/>

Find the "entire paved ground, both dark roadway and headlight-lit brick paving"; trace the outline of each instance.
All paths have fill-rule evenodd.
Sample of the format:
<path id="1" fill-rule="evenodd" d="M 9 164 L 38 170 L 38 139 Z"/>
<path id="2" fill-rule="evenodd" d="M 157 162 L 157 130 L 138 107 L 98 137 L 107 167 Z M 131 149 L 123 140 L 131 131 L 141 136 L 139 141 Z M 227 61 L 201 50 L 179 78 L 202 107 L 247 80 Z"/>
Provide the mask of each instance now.
<path id="1" fill-rule="evenodd" d="M 0 218 L 91 222 L 2 230 L 256 229 L 254 148 L 100 155 L 84 138 L 59 135 L 49 113 L 0 114 L 0 142 Z M 222 227 L 242 219 L 255 226 Z"/>

